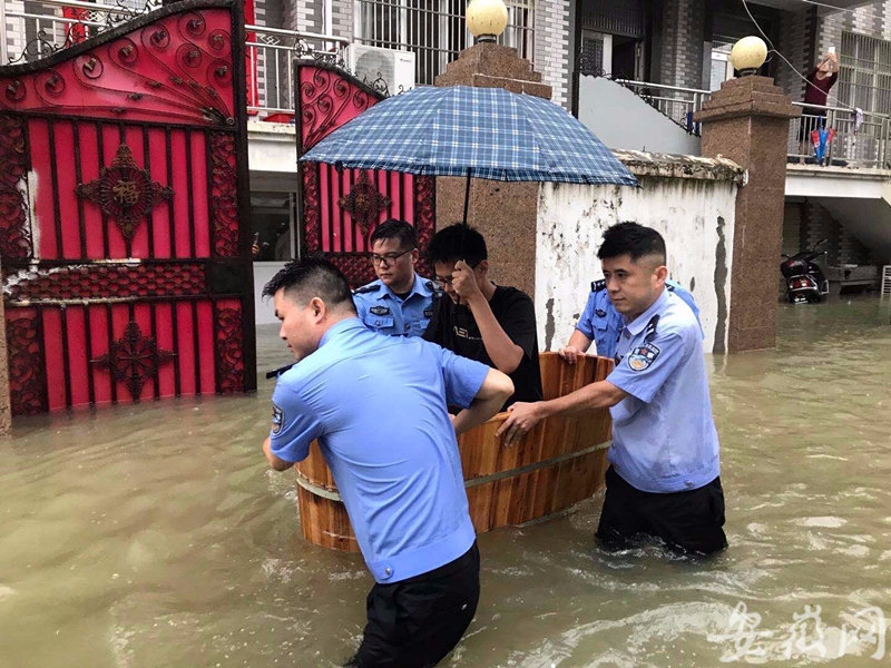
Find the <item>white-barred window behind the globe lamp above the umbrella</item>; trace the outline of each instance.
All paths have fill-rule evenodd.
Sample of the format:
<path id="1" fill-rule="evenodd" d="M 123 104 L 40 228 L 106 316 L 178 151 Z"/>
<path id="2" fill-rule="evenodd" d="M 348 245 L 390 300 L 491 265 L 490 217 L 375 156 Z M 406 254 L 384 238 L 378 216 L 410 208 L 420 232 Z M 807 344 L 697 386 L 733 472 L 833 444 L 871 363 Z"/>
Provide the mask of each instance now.
<path id="1" fill-rule="evenodd" d="M 532 60 L 533 0 L 507 0 L 501 45 Z M 473 37 L 464 24 L 467 0 L 355 0 L 355 39 L 363 45 L 414 51 L 415 84 L 429 85 Z"/>

